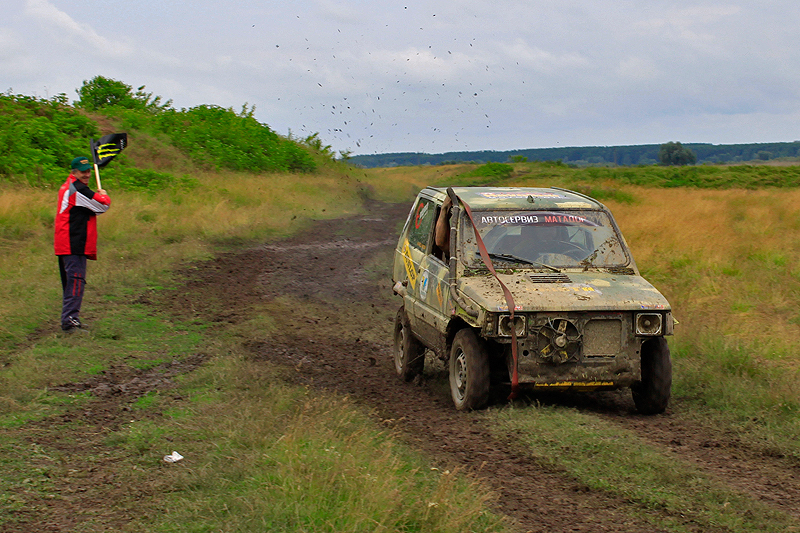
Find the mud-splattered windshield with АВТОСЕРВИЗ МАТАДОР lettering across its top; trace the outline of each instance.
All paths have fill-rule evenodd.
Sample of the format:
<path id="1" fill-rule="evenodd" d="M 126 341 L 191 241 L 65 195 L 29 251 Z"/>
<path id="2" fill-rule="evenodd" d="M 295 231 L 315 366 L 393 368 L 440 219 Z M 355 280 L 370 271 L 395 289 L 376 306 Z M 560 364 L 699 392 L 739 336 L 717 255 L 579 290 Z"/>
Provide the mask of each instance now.
<path id="1" fill-rule="evenodd" d="M 611 268 L 629 263 L 621 239 L 603 211 L 473 211 L 495 263 L 525 268 Z M 461 217 L 461 261 L 485 268 L 472 224 Z"/>

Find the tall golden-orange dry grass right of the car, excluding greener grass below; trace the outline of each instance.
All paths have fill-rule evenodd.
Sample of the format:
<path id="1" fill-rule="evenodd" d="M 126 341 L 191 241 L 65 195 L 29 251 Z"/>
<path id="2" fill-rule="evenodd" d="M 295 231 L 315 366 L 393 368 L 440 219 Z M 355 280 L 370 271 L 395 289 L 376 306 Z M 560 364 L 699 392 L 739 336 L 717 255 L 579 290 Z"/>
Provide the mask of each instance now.
<path id="1" fill-rule="evenodd" d="M 796 351 L 800 191 L 629 190 L 635 203 L 609 205 L 638 265 L 670 299 L 676 339 L 715 332 Z"/>

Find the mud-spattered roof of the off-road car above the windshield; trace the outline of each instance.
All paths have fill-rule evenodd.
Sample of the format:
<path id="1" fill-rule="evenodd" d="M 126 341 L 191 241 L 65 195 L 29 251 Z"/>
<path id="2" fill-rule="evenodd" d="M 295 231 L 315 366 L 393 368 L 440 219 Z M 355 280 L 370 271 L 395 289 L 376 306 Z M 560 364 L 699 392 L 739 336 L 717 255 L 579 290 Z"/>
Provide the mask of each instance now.
<path id="1" fill-rule="evenodd" d="M 447 195 L 442 187 L 425 191 L 442 200 Z M 605 209 L 593 198 L 557 187 L 453 187 L 453 191 L 472 209 Z"/>

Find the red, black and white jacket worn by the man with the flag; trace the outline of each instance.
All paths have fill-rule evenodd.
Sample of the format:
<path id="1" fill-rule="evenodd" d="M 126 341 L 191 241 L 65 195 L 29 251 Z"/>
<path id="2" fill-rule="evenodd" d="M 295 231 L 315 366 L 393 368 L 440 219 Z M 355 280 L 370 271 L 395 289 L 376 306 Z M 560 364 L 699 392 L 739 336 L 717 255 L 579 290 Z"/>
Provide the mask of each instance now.
<path id="1" fill-rule="evenodd" d="M 97 215 L 111 207 L 111 198 L 96 193 L 72 174 L 58 191 L 56 255 L 97 259 Z"/>

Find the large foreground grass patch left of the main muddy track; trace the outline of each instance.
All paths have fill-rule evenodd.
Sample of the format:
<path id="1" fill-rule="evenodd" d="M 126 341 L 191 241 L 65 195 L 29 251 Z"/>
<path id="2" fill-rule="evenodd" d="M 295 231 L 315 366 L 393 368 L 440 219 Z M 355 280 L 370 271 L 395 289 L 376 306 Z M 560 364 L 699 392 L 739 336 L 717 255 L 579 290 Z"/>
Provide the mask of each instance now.
<path id="1" fill-rule="evenodd" d="M 193 396 L 222 387 L 221 396 L 121 434 L 143 466 L 172 448 L 185 456 L 165 472 L 174 489 L 158 531 L 499 526 L 483 510 L 484 491 L 426 467 L 346 399 L 283 385 L 263 364 L 237 358 L 216 360 L 186 380 L 183 390 Z"/>

